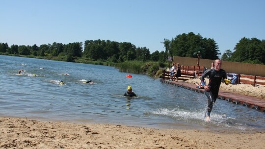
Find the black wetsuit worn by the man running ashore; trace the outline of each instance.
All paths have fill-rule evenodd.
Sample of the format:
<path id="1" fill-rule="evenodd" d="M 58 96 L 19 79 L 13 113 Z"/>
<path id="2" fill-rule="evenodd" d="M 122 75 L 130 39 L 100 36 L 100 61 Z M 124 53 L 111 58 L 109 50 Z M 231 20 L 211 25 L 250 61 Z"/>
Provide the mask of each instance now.
<path id="1" fill-rule="evenodd" d="M 209 83 L 208 87 L 210 88 L 210 91 L 205 91 L 205 95 L 208 98 L 208 107 L 206 110 L 207 116 L 210 116 L 212 111 L 212 105 L 215 102 L 215 100 L 218 97 L 219 87 L 221 85 L 222 78 L 227 78 L 226 72 L 223 69 L 220 69 L 218 72 L 212 68 L 207 70 L 202 76 L 201 76 L 201 82 L 204 82 L 204 78 L 206 76 L 209 76 Z"/>

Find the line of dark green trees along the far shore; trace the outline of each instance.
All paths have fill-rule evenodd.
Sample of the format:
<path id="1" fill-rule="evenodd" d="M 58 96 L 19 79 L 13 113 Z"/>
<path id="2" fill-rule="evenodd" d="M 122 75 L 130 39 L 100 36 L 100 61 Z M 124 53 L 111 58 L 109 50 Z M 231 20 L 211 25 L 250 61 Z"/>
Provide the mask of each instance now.
<path id="1" fill-rule="evenodd" d="M 150 53 L 146 47 L 136 47 L 130 42 L 115 42 L 110 40 L 86 40 L 82 42 L 62 44 L 12 45 L 0 43 L 0 53 L 32 56 L 58 56 L 63 60 L 74 62 L 77 58 L 92 61 L 158 61 L 165 62 L 168 56 L 198 57 L 216 59 L 221 54 L 218 45 L 211 38 L 203 38 L 200 34 L 189 32 L 180 34 L 171 40 L 161 42 L 165 50 Z M 84 47 L 84 48 L 83 48 Z M 221 59 L 225 61 L 265 64 L 265 41 L 256 38 L 242 38 L 237 43 L 235 51 L 226 50 Z"/>

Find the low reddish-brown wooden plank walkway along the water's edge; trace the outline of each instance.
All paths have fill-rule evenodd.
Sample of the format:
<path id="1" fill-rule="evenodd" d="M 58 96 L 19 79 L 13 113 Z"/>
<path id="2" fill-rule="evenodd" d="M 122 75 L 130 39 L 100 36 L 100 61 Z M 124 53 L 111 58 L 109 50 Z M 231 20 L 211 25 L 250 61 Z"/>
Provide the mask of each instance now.
<path id="1" fill-rule="evenodd" d="M 175 82 L 175 81 L 168 81 L 164 79 L 160 79 L 163 83 L 168 83 L 174 86 L 183 87 L 185 89 L 189 89 L 195 92 L 204 93 L 204 89 L 196 88 L 195 84 L 186 83 L 186 82 Z M 243 106 L 247 106 L 249 108 L 255 108 L 260 110 L 261 112 L 265 112 L 265 99 L 258 99 L 255 97 L 235 94 L 235 93 L 228 93 L 225 91 L 219 91 L 218 94 L 219 99 L 224 99 L 236 104 L 241 104 Z"/>

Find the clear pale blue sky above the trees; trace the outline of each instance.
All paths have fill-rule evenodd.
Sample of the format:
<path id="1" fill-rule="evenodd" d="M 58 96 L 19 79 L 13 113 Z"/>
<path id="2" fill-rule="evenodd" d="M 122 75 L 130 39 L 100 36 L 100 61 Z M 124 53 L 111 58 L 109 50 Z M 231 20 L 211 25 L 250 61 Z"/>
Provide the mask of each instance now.
<path id="1" fill-rule="evenodd" d="M 265 39 L 265 0 L 0 0 L 0 43 L 9 47 L 110 40 L 153 53 L 193 32 L 221 53 Z"/>

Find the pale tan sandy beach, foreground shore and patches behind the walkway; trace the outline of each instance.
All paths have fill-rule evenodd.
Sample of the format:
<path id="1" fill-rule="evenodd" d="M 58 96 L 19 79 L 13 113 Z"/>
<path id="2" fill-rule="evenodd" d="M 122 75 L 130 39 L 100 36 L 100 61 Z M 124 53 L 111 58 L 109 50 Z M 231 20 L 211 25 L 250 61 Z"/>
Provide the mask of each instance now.
<path id="1" fill-rule="evenodd" d="M 199 82 L 198 78 L 187 82 Z M 220 90 L 265 99 L 264 86 Z M 246 109 L 247 110 L 247 109 Z M 0 149 L 264 149 L 265 130 L 155 129 L 0 118 Z"/>

